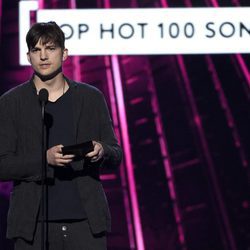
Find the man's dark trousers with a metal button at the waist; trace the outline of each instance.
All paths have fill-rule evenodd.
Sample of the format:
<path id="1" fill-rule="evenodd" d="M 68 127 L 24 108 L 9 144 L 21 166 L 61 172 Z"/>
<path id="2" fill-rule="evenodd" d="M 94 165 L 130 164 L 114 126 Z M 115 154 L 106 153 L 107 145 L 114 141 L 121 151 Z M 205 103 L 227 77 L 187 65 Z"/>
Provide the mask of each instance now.
<path id="1" fill-rule="evenodd" d="M 77 222 L 49 222 L 46 250 L 106 250 L 106 235 L 93 235 L 87 220 Z M 38 223 L 34 241 L 18 238 L 15 250 L 41 249 L 41 223 Z"/>

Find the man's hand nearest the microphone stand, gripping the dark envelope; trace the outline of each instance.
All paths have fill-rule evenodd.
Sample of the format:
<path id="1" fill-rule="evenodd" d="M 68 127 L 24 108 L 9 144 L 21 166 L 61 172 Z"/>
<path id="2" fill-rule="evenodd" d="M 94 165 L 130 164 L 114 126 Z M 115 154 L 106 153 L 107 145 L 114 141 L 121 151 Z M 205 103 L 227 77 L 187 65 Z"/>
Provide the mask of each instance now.
<path id="1" fill-rule="evenodd" d="M 53 166 L 64 167 L 73 161 L 74 155 L 63 155 L 63 145 L 56 145 L 47 150 L 47 162 Z"/>

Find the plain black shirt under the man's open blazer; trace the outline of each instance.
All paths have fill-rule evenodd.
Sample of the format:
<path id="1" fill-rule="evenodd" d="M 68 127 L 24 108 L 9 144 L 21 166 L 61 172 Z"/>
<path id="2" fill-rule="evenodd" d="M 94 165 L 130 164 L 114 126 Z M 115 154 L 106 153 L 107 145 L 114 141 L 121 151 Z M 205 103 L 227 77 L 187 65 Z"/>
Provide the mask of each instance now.
<path id="1" fill-rule="evenodd" d="M 62 144 L 75 144 L 73 134 L 71 90 L 63 94 L 55 102 L 46 105 L 46 125 L 48 148 Z M 53 167 L 53 166 L 49 166 Z M 81 204 L 78 187 L 74 179 L 77 172 L 69 166 L 54 167 L 54 183 L 48 185 L 48 219 L 83 219 L 86 218 Z"/>

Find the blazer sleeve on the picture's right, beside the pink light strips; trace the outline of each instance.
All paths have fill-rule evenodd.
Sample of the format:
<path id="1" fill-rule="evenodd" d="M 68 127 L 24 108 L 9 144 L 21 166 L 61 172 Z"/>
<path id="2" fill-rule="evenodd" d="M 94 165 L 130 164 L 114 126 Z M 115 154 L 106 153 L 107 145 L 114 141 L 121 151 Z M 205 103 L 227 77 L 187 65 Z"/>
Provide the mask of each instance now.
<path id="1" fill-rule="evenodd" d="M 122 160 L 122 149 L 118 144 L 112 120 L 108 111 L 107 103 L 102 93 L 98 98 L 98 113 L 99 113 L 99 131 L 100 143 L 104 149 L 104 160 L 102 165 L 109 168 L 116 168 Z"/>

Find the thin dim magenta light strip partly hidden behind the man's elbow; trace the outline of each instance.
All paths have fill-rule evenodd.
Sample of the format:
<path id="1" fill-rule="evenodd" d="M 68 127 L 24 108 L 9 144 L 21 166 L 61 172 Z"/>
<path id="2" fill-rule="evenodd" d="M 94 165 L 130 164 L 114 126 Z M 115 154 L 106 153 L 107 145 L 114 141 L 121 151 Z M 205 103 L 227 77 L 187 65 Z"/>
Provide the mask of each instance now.
<path id="1" fill-rule="evenodd" d="M 114 82 L 112 78 L 112 72 L 110 68 L 110 57 L 105 56 L 104 57 L 105 66 L 106 66 L 106 74 L 107 74 L 107 81 L 108 81 L 108 90 L 109 90 L 109 96 L 110 96 L 110 102 L 111 102 L 111 112 L 112 112 L 112 118 L 113 123 L 115 127 L 116 135 L 119 135 L 119 140 L 121 142 L 121 136 L 120 131 L 118 129 L 119 126 L 119 120 L 118 120 L 118 114 L 117 114 L 117 106 L 116 106 L 116 100 L 115 100 L 115 90 L 114 90 Z M 128 183 L 126 181 L 126 171 L 125 171 L 125 164 L 122 164 L 120 167 L 120 177 L 121 177 L 121 185 L 122 185 L 122 192 L 123 192 L 123 201 L 125 206 L 125 215 L 127 220 L 127 229 L 128 229 L 128 237 L 129 237 L 129 245 L 130 249 L 135 249 L 135 232 L 133 229 L 133 222 L 132 222 L 132 215 L 131 215 L 131 205 L 129 201 L 129 194 L 127 191 Z"/>

